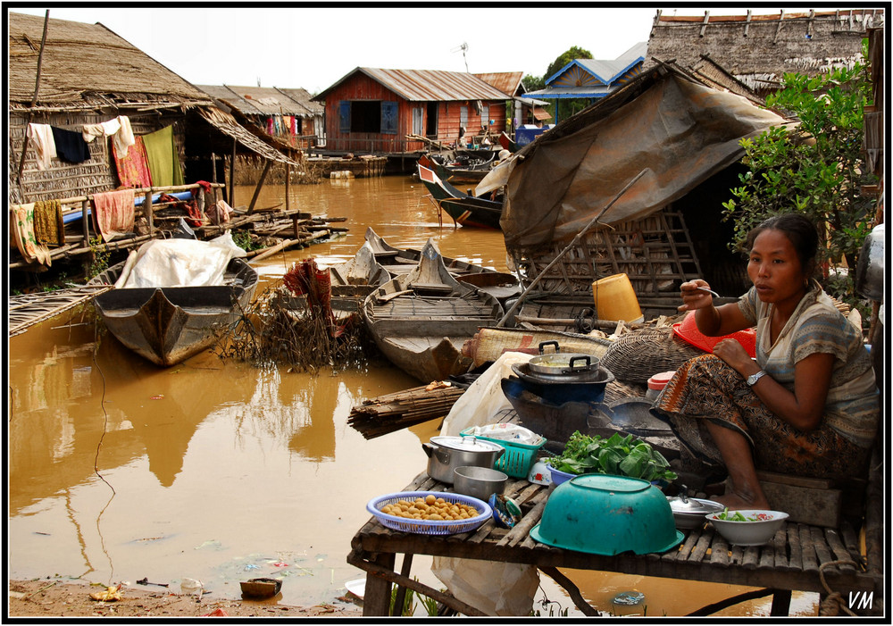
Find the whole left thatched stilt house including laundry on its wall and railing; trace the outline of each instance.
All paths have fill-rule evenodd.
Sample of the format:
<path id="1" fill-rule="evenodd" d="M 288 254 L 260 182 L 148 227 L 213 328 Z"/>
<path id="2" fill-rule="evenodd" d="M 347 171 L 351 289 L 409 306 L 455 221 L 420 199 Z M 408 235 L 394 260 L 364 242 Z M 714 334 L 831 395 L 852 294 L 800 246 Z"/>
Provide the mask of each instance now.
<path id="1" fill-rule="evenodd" d="M 97 194 L 135 189 L 133 232 L 105 242 L 126 249 L 176 225 L 155 214 L 163 208 L 153 204 L 158 192 L 189 191 L 202 180 L 214 198 L 232 202 L 223 181 L 225 160 L 236 153 L 297 165 L 102 24 L 7 16 L 7 202 L 58 201 L 64 231 L 42 261 L 13 246 L 11 269 L 89 259 Z"/>

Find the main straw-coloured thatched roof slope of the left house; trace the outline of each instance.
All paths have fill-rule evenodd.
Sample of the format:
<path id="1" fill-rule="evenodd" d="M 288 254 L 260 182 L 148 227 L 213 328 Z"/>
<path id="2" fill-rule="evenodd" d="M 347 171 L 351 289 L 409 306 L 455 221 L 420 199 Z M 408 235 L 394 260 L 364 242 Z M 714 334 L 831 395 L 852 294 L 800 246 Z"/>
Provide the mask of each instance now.
<path id="1" fill-rule="evenodd" d="M 44 18 L 8 13 L 10 108 L 34 96 Z M 40 66 L 38 107 L 195 106 L 212 104 L 201 90 L 102 24 L 49 20 Z"/>

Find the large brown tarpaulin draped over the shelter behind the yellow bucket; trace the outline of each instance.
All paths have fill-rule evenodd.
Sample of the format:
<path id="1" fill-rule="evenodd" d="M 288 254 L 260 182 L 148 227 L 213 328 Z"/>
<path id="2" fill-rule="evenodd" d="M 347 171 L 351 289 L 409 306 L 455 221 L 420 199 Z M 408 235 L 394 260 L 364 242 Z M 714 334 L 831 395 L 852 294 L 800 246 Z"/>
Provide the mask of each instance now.
<path id="1" fill-rule="evenodd" d="M 508 178 L 500 225 L 509 247 L 572 238 L 639 171 L 600 222 L 638 220 L 737 161 L 741 138 L 785 124 L 746 98 L 667 73 L 630 103 L 572 134 L 530 146 Z"/>

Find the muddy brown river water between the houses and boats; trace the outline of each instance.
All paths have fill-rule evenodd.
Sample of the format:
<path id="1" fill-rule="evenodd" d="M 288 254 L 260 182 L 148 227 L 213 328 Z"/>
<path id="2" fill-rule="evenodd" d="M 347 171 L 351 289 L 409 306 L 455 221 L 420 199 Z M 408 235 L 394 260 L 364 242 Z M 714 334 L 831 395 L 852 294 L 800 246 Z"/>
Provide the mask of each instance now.
<path id="1" fill-rule="evenodd" d="M 247 204 L 253 188 L 237 188 Z M 279 204 L 266 187 L 258 206 Z M 292 263 L 354 255 L 371 226 L 395 246 L 421 247 L 506 271 L 497 231 L 455 229 L 411 177 L 324 180 L 290 188 L 291 206 L 345 217 L 349 232 L 260 263 L 262 284 Z M 89 311 L 66 312 L 8 343 L 8 570 L 12 579 L 71 576 L 137 580 L 179 591 L 201 580 L 213 597 L 240 597 L 239 580 L 281 576 L 284 605 L 337 603 L 363 572 L 346 563 L 372 497 L 403 488 L 427 464 L 421 443 L 438 421 L 366 440 L 346 424 L 351 407 L 416 386 L 402 371 L 258 369 L 212 352 L 170 369 L 97 335 Z M 614 614 L 684 615 L 747 588 L 569 571 L 590 603 Z M 413 576 L 435 588 L 430 558 Z M 148 586 L 147 588 L 159 589 Z M 622 591 L 640 605 L 613 605 Z M 544 601 L 557 604 L 542 605 Z M 817 596 L 794 594 L 792 613 L 817 614 Z M 764 598 L 722 615 L 767 615 Z M 541 576 L 534 608 L 570 609 Z M 421 606 L 417 609 L 421 612 Z"/>

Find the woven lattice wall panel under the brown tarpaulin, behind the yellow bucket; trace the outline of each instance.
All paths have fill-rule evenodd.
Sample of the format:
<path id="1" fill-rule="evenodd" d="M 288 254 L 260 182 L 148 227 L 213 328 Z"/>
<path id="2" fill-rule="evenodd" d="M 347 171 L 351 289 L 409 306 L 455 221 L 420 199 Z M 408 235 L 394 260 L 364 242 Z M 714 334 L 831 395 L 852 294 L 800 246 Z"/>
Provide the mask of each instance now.
<path id="1" fill-rule="evenodd" d="M 509 252 L 529 284 L 568 243 L 553 241 L 548 246 L 513 248 Z M 675 295 L 681 282 L 700 276 L 682 214 L 663 210 L 642 220 L 588 232 L 543 274 L 538 288 L 565 296 L 591 295 L 595 280 L 619 273 L 630 277 L 638 296 Z"/>

